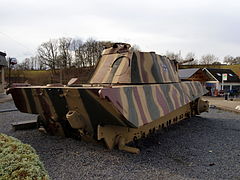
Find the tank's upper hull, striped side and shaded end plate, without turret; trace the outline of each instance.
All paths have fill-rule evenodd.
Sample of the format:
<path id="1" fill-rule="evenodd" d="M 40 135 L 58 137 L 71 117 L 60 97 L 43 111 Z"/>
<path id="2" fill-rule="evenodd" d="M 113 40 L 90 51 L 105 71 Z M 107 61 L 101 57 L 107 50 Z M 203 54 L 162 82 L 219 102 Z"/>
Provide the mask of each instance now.
<path id="1" fill-rule="evenodd" d="M 18 87 L 8 91 L 24 113 L 39 114 L 50 134 L 98 140 L 98 126 L 140 128 L 206 93 L 199 82 L 111 87 Z"/>

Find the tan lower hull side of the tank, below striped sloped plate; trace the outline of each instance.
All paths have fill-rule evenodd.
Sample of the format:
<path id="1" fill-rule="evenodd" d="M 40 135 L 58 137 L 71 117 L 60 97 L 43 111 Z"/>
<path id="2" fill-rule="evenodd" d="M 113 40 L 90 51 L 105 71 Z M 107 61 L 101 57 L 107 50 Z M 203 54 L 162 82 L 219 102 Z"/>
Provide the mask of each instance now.
<path id="1" fill-rule="evenodd" d="M 118 146 L 120 150 L 131 153 L 139 153 L 138 148 L 126 146 L 125 144 L 140 138 L 147 137 L 149 134 L 167 128 L 179 121 L 189 118 L 194 114 L 193 104 L 186 104 L 179 109 L 161 117 L 151 123 L 139 128 L 127 128 L 120 126 L 98 126 L 98 140 L 103 139 L 109 149 Z"/>

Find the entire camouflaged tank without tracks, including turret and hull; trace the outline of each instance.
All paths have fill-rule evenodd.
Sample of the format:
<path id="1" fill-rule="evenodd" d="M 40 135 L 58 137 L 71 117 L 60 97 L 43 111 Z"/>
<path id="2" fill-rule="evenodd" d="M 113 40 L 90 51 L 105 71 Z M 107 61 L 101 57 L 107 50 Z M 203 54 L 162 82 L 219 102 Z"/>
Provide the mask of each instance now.
<path id="1" fill-rule="evenodd" d="M 127 143 L 208 110 L 200 99 L 207 90 L 200 82 L 181 82 L 176 61 L 123 43 L 103 51 L 89 84 L 8 93 L 21 112 L 39 114 L 49 134 L 103 140 L 109 149 L 133 153 L 139 149 Z"/>

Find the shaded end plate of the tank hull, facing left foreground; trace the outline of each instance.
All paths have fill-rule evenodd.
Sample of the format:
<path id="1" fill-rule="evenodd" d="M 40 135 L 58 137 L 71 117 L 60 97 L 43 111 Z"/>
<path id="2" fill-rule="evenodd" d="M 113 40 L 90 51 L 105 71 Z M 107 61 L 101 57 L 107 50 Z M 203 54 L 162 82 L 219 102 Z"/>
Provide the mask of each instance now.
<path id="1" fill-rule="evenodd" d="M 131 125 L 106 99 L 99 97 L 100 88 L 14 88 L 10 90 L 16 107 L 25 113 L 40 114 L 53 121 L 66 120 L 69 111 L 77 111 L 93 132 L 99 124 Z"/>

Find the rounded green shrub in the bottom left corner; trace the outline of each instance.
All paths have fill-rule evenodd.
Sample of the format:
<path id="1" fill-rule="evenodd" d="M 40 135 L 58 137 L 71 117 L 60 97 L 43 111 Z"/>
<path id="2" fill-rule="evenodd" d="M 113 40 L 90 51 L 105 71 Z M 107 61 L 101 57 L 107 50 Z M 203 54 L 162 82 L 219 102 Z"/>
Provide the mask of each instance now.
<path id="1" fill-rule="evenodd" d="M 0 133 L 0 179 L 48 180 L 49 176 L 30 145 Z"/>

